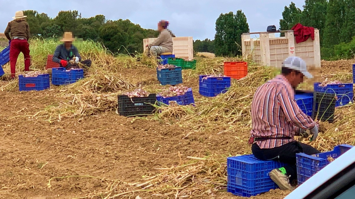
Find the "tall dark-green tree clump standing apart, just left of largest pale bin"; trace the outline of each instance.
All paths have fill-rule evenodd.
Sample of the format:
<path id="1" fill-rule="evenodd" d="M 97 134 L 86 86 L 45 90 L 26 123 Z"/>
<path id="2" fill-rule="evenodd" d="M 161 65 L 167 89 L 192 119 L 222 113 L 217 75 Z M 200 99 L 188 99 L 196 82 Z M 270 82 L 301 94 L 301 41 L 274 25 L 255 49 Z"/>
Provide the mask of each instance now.
<path id="1" fill-rule="evenodd" d="M 217 56 L 241 55 L 241 34 L 249 32 L 249 25 L 241 10 L 220 14 L 216 20 L 214 36 L 215 54 Z M 239 46 L 238 46 L 239 45 Z"/>

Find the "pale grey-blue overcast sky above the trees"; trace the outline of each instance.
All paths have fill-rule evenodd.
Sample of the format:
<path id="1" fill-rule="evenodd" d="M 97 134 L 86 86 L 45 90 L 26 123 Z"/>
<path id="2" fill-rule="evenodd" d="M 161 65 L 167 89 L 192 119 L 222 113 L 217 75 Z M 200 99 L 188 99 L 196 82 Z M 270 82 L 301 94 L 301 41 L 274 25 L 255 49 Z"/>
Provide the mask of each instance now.
<path id="1" fill-rule="evenodd" d="M 302 10 L 304 0 L 292 0 Z M 176 36 L 194 40 L 213 39 L 215 21 L 221 13 L 242 10 L 250 32 L 279 28 L 284 7 L 291 0 L 0 0 L 0 30 L 3 32 L 18 10 L 37 10 L 54 18 L 61 10 L 77 10 L 82 17 L 104 15 L 106 19 L 130 19 L 142 28 L 157 29 L 161 19 L 170 22 Z M 31 27 L 30 27 L 31 28 Z"/>

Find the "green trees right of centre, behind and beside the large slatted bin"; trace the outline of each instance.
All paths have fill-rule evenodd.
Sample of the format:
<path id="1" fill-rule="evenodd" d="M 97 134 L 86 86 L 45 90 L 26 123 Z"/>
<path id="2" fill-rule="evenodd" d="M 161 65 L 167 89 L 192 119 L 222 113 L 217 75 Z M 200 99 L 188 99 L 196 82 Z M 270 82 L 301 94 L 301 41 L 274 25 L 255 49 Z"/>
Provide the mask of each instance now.
<path id="1" fill-rule="evenodd" d="M 305 0 L 303 10 L 294 2 L 285 6 L 280 19 L 280 30 L 290 30 L 295 24 L 301 23 L 320 31 L 322 59 L 349 59 L 355 56 L 355 1 L 354 0 Z M 266 24 L 265 30 L 267 25 Z M 202 52 L 214 49 L 217 56 L 241 55 L 242 33 L 249 32 L 249 25 L 241 10 L 220 14 L 215 24 L 214 40 L 197 40 L 194 50 Z M 284 36 L 281 33 L 280 36 Z"/>

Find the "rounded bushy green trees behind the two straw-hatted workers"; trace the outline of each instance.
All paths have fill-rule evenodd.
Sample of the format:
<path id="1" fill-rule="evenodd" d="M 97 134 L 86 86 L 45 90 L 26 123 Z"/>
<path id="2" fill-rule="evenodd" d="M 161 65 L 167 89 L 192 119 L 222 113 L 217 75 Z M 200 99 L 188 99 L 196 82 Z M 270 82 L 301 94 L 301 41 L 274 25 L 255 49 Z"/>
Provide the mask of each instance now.
<path id="1" fill-rule="evenodd" d="M 141 28 L 128 19 L 111 21 L 106 20 L 104 15 L 83 18 L 76 10 L 60 11 L 54 18 L 34 10 L 26 10 L 23 13 L 28 16 L 26 20 L 31 36 L 53 38 L 70 31 L 84 40 L 103 42 L 105 47 L 114 53 L 143 52 L 143 39 L 159 35 L 157 31 Z"/>

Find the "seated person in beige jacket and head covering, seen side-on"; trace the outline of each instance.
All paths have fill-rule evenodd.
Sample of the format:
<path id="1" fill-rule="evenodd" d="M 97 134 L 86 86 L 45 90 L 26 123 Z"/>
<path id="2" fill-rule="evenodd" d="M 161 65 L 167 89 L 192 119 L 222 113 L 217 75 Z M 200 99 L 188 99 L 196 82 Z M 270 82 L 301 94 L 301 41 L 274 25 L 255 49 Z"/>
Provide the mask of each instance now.
<path id="1" fill-rule="evenodd" d="M 146 45 L 146 47 L 150 48 L 150 55 L 159 56 L 173 54 L 173 37 L 175 37 L 175 35 L 167 29 L 168 25 L 169 22 L 164 20 L 158 23 L 159 37 L 151 44 Z"/>

